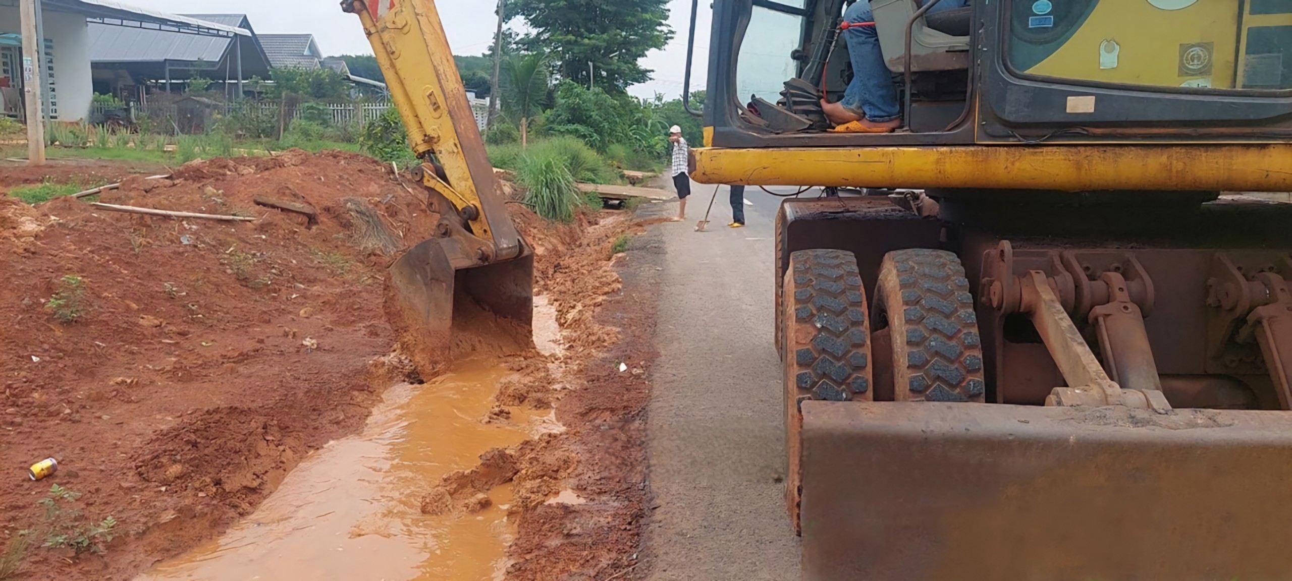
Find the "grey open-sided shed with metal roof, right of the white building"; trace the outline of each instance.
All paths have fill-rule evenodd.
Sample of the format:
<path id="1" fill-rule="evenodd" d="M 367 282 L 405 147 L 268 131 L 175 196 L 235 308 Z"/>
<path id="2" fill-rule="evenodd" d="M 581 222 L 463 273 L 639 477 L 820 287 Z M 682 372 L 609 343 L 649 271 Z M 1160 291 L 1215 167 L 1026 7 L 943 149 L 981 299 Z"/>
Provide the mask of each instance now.
<path id="1" fill-rule="evenodd" d="M 247 37 L 194 36 L 167 30 L 90 25 L 90 54 L 97 93 L 140 98 L 145 87 L 178 92 L 189 79 L 213 81 L 212 90 L 236 97 L 239 80 L 269 77 L 270 62 L 245 14 L 185 14 L 245 30 Z"/>

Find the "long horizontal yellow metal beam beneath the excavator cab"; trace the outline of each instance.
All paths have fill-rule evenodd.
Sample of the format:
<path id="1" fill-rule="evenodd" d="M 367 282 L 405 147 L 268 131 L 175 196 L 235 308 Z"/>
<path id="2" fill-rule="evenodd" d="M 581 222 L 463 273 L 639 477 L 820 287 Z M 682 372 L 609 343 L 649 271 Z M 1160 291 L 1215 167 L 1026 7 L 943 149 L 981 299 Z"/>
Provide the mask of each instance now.
<path id="1" fill-rule="evenodd" d="M 700 183 L 907 189 L 1292 191 L 1292 145 L 691 150 Z"/>

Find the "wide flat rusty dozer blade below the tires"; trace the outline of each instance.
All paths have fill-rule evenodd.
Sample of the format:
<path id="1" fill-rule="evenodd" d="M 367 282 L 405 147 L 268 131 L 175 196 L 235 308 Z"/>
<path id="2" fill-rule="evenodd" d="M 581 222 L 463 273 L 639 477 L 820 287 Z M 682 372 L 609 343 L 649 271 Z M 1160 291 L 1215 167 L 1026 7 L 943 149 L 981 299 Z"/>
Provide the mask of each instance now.
<path id="1" fill-rule="evenodd" d="M 802 404 L 806 580 L 1292 578 L 1292 414 Z"/>

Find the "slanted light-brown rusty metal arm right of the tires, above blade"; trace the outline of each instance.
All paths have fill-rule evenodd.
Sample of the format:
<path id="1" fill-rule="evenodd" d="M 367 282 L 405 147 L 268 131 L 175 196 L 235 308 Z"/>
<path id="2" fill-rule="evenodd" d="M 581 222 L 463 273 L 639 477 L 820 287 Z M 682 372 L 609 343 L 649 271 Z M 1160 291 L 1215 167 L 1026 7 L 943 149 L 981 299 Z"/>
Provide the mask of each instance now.
<path id="1" fill-rule="evenodd" d="M 1159 413 L 1171 411 L 1167 398 L 1158 390 L 1123 390 L 1112 381 L 1085 338 L 1076 329 L 1045 272 L 1031 271 L 1021 280 L 1021 310 L 1032 319 L 1045 349 L 1063 373 L 1070 387 L 1056 387 L 1047 405 L 1127 405 Z"/>

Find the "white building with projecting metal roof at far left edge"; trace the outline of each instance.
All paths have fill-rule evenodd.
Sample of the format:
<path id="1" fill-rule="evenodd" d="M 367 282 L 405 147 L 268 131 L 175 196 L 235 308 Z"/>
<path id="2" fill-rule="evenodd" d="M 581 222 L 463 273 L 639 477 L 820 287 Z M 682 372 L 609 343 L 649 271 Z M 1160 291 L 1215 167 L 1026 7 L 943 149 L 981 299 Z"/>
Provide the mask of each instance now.
<path id="1" fill-rule="evenodd" d="M 39 34 L 44 40 L 39 54 L 22 54 L 21 43 L 0 43 L 0 115 L 22 111 L 22 107 L 12 107 L 9 101 L 21 101 L 25 83 L 21 67 L 25 58 L 32 58 L 39 65 L 34 67 L 37 83 L 44 87 L 44 115 L 61 121 L 85 119 L 94 94 L 90 26 L 218 37 L 230 43 L 252 39 L 251 31 L 239 26 L 147 10 L 115 0 L 41 0 L 39 14 Z M 0 36 L 21 32 L 18 0 L 0 0 Z"/>

